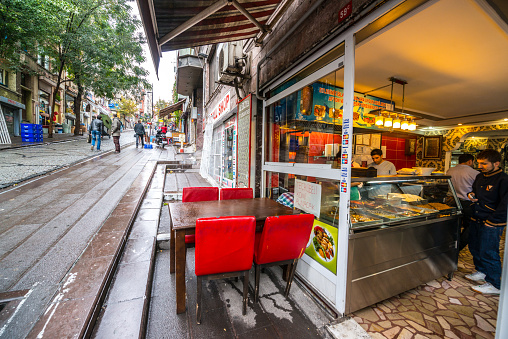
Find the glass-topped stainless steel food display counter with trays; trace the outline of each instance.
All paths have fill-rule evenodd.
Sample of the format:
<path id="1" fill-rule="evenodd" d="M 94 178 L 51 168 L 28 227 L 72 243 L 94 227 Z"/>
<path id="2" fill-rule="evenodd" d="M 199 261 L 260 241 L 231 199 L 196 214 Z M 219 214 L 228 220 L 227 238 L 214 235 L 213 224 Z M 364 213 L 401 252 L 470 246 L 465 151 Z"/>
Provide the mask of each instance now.
<path id="1" fill-rule="evenodd" d="M 297 273 L 322 299 L 334 299 L 341 272 L 346 314 L 453 276 L 461 207 L 449 176 L 351 178 L 347 258 L 334 257 L 344 244 L 337 232 L 340 182 L 301 179 L 321 187 L 321 204 Z"/>

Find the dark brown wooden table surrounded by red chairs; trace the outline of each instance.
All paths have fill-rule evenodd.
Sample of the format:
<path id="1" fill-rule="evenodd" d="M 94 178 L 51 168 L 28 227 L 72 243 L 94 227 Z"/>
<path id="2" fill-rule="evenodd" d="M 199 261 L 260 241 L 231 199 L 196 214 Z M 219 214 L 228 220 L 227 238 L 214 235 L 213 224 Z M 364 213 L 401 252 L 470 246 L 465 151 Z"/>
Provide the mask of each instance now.
<path id="1" fill-rule="evenodd" d="M 268 198 L 169 203 L 171 217 L 170 272 L 175 273 L 176 313 L 185 312 L 185 235 L 194 234 L 196 220 L 220 216 L 254 216 L 256 232 L 269 216 L 290 215 L 293 209 Z"/>

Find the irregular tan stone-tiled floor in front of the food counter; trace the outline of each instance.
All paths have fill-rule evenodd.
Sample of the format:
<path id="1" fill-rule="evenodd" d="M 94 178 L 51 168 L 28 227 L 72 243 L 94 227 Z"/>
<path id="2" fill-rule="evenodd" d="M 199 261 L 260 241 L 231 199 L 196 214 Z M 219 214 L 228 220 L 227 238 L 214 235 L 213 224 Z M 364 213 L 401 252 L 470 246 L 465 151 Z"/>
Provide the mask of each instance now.
<path id="1" fill-rule="evenodd" d="M 494 338 L 499 296 L 471 290 L 474 284 L 464 275 L 473 269 L 473 258 L 465 248 L 452 281 L 433 280 L 352 316 L 372 338 Z"/>

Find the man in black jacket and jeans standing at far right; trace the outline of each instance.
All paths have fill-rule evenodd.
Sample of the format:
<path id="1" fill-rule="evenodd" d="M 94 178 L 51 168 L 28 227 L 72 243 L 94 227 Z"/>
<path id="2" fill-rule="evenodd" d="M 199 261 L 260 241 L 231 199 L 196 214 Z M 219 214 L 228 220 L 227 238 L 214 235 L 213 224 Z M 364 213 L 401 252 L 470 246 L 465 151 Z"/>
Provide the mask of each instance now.
<path id="1" fill-rule="evenodd" d="M 501 154 L 488 149 L 476 157 L 478 174 L 473 191 L 468 194 L 474 202 L 469 233 L 469 250 L 476 272 L 466 279 L 486 283 L 472 289 L 483 294 L 499 294 L 501 287 L 501 258 L 499 242 L 506 226 L 508 204 L 508 175 L 499 168 Z"/>

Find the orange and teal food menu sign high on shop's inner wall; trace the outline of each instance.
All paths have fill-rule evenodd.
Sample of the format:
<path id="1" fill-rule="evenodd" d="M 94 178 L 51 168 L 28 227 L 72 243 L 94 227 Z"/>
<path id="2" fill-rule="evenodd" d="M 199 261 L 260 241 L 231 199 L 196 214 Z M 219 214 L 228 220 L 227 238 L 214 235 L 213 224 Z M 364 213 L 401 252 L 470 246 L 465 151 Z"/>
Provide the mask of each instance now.
<path id="1" fill-rule="evenodd" d="M 323 83 L 314 83 L 298 91 L 298 120 L 342 124 L 344 90 Z M 390 100 L 355 93 L 353 127 L 378 129 L 375 125 L 377 109 L 391 109 Z"/>

